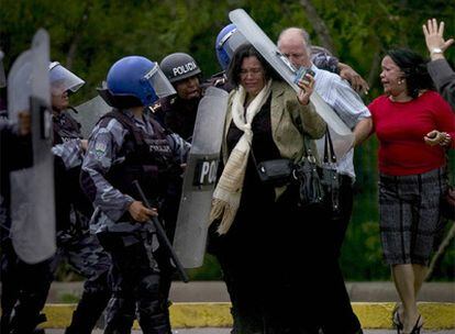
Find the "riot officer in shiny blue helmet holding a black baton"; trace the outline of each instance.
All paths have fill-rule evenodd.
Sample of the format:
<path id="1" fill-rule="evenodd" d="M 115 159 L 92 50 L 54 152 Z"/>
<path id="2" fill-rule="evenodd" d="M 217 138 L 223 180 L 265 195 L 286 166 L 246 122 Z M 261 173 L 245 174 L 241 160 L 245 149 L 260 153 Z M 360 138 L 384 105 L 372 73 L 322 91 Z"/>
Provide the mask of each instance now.
<path id="1" fill-rule="evenodd" d="M 135 311 L 144 333 L 170 333 L 160 288 L 160 270 L 168 260 L 159 255 L 163 247 L 147 221 L 159 214 L 167 223 L 163 212 L 168 188 L 180 178 L 189 145 L 165 132 L 147 107 L 171 93 L 158 65 L 141 56 L 114 63 L 100 90 L 114 109 L 90 135 L 81 183 L 97 207 L 91 229 L 112 258 L 113 297 L 104 333 L 130 333 Z M 137 200 L 135 180 L 154 209 Z"/>

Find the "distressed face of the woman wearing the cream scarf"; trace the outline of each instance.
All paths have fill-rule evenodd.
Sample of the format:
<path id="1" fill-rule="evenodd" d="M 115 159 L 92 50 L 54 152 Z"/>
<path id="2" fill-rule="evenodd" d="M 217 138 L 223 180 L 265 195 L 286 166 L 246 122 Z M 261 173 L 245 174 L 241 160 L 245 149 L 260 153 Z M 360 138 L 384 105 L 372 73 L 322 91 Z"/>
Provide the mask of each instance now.
<path id="1" fill-rule="evenodd" d="M 255 56 L 243 58 L 240 79 L 243 88 L 253 97 L 264 88 L 266 85 L 264 68 Z"/>

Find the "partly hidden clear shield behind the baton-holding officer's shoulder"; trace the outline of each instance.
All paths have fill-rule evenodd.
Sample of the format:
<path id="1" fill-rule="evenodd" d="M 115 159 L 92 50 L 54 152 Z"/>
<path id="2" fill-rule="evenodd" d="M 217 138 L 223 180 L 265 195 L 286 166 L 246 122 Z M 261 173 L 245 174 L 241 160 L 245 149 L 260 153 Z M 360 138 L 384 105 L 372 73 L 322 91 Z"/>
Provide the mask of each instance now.
<path id="1" fill-rule="evenodd" d="M 103 114 L 111 111 L 112 107 L 106 103 L 100 96 L 97 96 L 96 98 L 77 105 L 75 110 L 76 112 L 70 112 L 71 116 L 82 125 L 82 136 L 88 138 L 98 120 Z"/>

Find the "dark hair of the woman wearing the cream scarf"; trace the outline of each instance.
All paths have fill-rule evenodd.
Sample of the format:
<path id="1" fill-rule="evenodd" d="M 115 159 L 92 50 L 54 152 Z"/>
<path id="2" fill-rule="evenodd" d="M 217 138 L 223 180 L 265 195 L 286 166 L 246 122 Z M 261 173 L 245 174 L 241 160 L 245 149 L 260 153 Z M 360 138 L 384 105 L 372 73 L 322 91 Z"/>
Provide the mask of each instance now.
<path id="1" fill-rule="evenodd" d="M 259 60 L 260 65 L 265 71 L 266 81 L 268 79 L 273 80 L 281 80 L 281 77 L 275 71 L 275 69 L 264 59 L 264 57 L 257 52 L 257 49 L 252 44 L 242 44 L 235 51 L 234 55 L 232 56 L 231 63 L 229 64 L 226 74 L 229 82 L 234 86 L 238 87 L 241 84 L 241 70 L 242 70 L 242 63 L 244 58 L 247 57 L 256 57 Z"/>

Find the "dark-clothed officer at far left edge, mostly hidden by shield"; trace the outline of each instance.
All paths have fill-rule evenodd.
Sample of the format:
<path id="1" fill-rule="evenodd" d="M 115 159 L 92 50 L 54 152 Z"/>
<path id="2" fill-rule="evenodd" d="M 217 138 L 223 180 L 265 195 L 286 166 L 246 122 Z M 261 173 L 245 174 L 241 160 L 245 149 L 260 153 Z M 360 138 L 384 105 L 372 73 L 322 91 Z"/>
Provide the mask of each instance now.
<path id="1" fill-rule="evenodd" d="M 0 333 L 41 334 L 44 330 L 35 327 L 45 321 L 45 315 L 40 312 L 51 285 L 49 261 L 45 259 L 30 264 L 20 258 L 13 247 L 11 232 L 10 174 L 33 165 L 30 105 L 25 107 L 26 103 L 22 105 L 13 101 L 21 105 L 18 111 L 18 122 L 12 123 L 8 119 L 7 76 L 2 58 L 3 53 L 0 51 L 0 277 L 2 281 Z M 14 65 L 21 63 L 22 66 L 27 66 L 30 62 L 21 63 L 18 58 Z M 30 73 L 22 78 L 26 80 L 27 76 L 30 77 Z M 8 91 L 10 104 L 12 104 L 11 97 L 19 99 L 21 96 L 24 100 L 29 100 L 26 84 L 30 82 L 15 81 L 14 84 L 20 84 L 20 87 L 15 85 L 10 87 Z"/>

